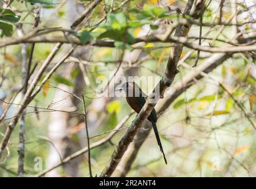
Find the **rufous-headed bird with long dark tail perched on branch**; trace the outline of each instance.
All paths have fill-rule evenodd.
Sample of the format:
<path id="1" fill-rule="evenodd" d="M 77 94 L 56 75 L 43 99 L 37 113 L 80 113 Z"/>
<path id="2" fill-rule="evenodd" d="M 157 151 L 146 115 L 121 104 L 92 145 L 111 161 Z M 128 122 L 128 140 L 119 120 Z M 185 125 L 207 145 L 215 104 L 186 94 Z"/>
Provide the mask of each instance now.
<path id="1" fill-rule="evenodd" d="M 121 87 L 118 87 L 115 91 L 119 91 L 119 92 L 124 91 L 128 105 L 133 110 L 135 110 L 135 112 L 140 113 L 140 110 L 142 109 L 142 107 L 144 106 L 144 104 L 146 102 L 145 99 L 147 97 L 147 94 L 142 92 L 140 86 L 138 86 L 137 83 L 126 82 L 126 83 L 122 84 Z M 164 162 L 167 164 L 166 155 L 164 154 L 163 146 L 161 144 L 160 136 L 159 136 L 159 133 L 157 130 L 157 124 L 156 124 L 157 112 L 155 112 L 155 109 L 152 110 L 152 112 L 150 113 L 150 116 L 148 116 L 147 119 L 152 123 L 154 133 L 155 133 L 155 138 L 157 139 L 157 144 L 159 145 L 160 151 L 163 154 Z"/>

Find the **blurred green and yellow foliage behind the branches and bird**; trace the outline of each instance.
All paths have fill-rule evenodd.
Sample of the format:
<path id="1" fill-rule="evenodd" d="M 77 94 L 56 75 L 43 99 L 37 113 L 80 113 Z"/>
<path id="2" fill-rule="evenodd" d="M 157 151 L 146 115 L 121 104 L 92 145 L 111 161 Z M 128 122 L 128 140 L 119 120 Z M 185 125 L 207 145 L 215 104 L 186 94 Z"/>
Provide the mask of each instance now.
<path id="1" fill-rule="evenodd" d="M 11 4 L 13 11 L 3 11 L 0 9 L 0 30 L 2 39 L 6 37 L 18 37 L 16 24 L 22 22 L 23 30 L 28 32 L 33 26 L 34 14 L 32 3 L 42 3 L 41 20 L 46 19 L 51 12 L 56 9 L 59 1 L 46 0 L 29 0 L 14 1 Z M 176 12 L 170 12 L 168 6 L 176 6 L 183 9 L 186 1 L 129 1 L 122 6 L 119 11 L 112 12 L 112 9 L 118 8 L 122 1 L 105 0 L 102 1 L 93 10 L 92 14 L 86 21 L 86 27 L 74 32 L 74 36 L 80 37 L 82 43 L 88 43 L 92 39 L 114 40 L 116 48 L 108 47 L 79 47 L 73 57 L 83 61 L 85 66 L 85 77 L 79 77 L 81 68 L 79 63 L 67 60 L 60 69 L 54 73 L 53 77 L 43 86 L 41 92 L 35 97 L 30 107 L 27 108 L 25 119 L 25 175 L 36 175 L 40 171 L 50 167 L 47 159 L 50 157 L 50 148 L 54 145 L 49 142 L 49 125 L 54 119 L 59 119 L 53 115 L 50 110 L 38 109 L 38 107 L 58 109 L 59 105 L 67 111 L 76 110 L 82 113 L 82 102 L 77 105 L 65 104 L 70 99 L 76 99 L 73 94 L 74 89 L 82 86 L 79 93 L 86 96 L 86 106 L 88 107 L 88 119 L 90 136 L 99 135 L 103 132 L 111 131 L 115 128 L 125 115 L 131 111 L 125 98 L 108 97 L 102 101 L 97 99 L 95 90 L 99 86 L 97 79 L 110 79 L 122 58 L 122 49 L 126 52 L 140 50 L 131 45 L 135 38 L 143 36 L 147 32 L 161 32 L 165 30 L 165 25 L 177 22 Z M 208 3 L 209 1 L 207 1 Z M 239 23 L 250 21 L 255 14 L 252 1 L 238 1 L 237 9 Z M 90 1 L 68 0 L 66 5 L 60 8 L 53 17 L 47 22 L 44 28 L 69 28 L 70 24 L 83 11 L 83 7 Z M 206 4 L 207 4 L 206 3 Z M 3 5 L 3 3 L 1 2 Z M 203 22 L 213 23 L 219 20 L 219 1 L 213 0 L 203 14 Z M 248 14 L 246 14 L 248 13 Z M 106 22 L 97 24 L 98 21 L 105 17 Z M 164 22 L 160 24 L 158 19 Z M 230 21 L 231 8 L 230 1 L 225 1 L 223 6 L 222 21 Z M 171 22 L 173 20 L 173 22 Z M 162 23 L 162 22 L 161 22 Z M 97 24 L 97 25 L 95 25 Z M 202 27 L 202 36 L 209 38 L 204 39 L 202 44 L 210 44 L 222 47 L 226 45 L 222 40 L 231 40 L 231 27 Z M 92 30 L 94 28 L 94 30 Z M 247 37 L 255 34 L 254 24 L 245 24 L 239 28 L 242 35 Z M 200 27 L 193 25 L 189 37 L 195 37 L 194 42 L 198 43 L 196 37 L 199 36 Z M 219 34 L 219 30 L 221 34 Z M 48 34 L 57 35 L 57 34 Z M 212 40 L 212 38 L 218 40 Z M 2 40 L 1 39 L 1 40 Z M 60 53 L 54 58 L 50 67 L 54 66 L 57 60 L 64 54 L 69 44 L 61 47 Z M 53 49 L 54 44 L 39 43 L 35 45 L 33 64 L 42 64 Z M 166 68 L 167 58 L 170 54 L 170 44 L 168 43 L 145 43 L 142 45 L 142 55 L 146 57 L 137 66 L 134 66 L 135 74 L 138 76 L 155 76 L 160 79 Z M 27 51 L 30 51 L 30 45 L 27 45 Z M 181 57 L 184 57 L 191 51 L 184 47 Z M 199 65 L 212 53 L 200 53 Z M 197 51 L 193 51 L 191 56 L 186 59 L 190 66 L 196 61 Z M 121 71 L 131 69 L 129 56 Z M 0 97 L 9 101 L 14 99 L 13 103 L 21 102 L 21 94 L 17 91 L 21 84 L 21 45 L 12 45 L 0 49 L 0 66 L 1 66 L 1 90 Z M 136 63 L 136 62 L 135 62 Z M 131 64 L 135 64 L 131 62 Z M 38 68 L 37 68 L 38 69 Z M 35 71 L 37 71 L 35 69 Z M 179 66 L 180 71 L 177 74 L 174 83 L 182 80 L 186 74 L 191 73 L 191 69 Z M 111 74 L 110 74 L 111 73 Z M 77 83 L 77 78 L 79 78 Z M 221 66 L 217 67 L 202 80 L 198 80 L 192 87 L 180 95 L 161 115 L 157 125 L 161 135 L 164 149 L 167 154 L 168 165 L 164 164 L 161 153 L 155 141 L 154 133 L 151 132 L 145 143 L 142 145 L 138 157 L 132 164 L 128 176 L 131 177 L 247 177 L 256 175 L 255 157 L 255 126 L 252 126 L 247 116 L 255 122 L 255 58 L 247 54 L 237 53 L 232 58 L 226 60 Z M 106 80 L 105 79 L 105 80 Z M 214 82 L 215 81 L 215 82 Z M 216 84 L 223 84 L 227 90 Z M 86 83 L 87 82 L 87 83 Z M 156 83 L 145 83 L 136 80 L 148 94 Z M 67 92 L 69 91 L 69 92 Z M 72 93 L 71 93 L 72 92 Z M 56 100 L 56 96 L 62 93 L 61 99 Z M 16 97 L 14 97 L 17 94 Z M 234 100 L 235 99 L 235 100 Z M 66 101 L 66 102 L 65 102 Z M 72 102 L 73 102 L 72 101 Z M 238 105 L 239 103 L 239 105 Z M 1 103 L 0 115 L 3 113 L 7 104 Z M 243 110 L 241 110 L 241 107 Z M 5 129 L 9 123 L 17 105 L 11 105 L 4 121 L 0 125 L 0 139 L 4 135 Z M 129 126 L 135 115 L 129 118 L 125 126 Z M 70 153 L 63 148 L 70 146 L 72 152 L 86 146 L 85 125 L 83 117 L 70 114 L 66 120 L 64 137 L 60 140 L 63 154 Z M 118 131 L 117 135 L 111 139 L 111 142 L 92 149 L 92 171 L 93 174 L 100 174 L 106 163 L 109 161 L 111 154 L 119 139 L 124 135 L 126 129 Z M 59 132 L 59 131 L 58 131 Z M 99 141 L 108 134 L 93 137 L 91 143 Z M 68 142 L 67 142 L 68 141 Z M 68 144 L 67 144 L 68 143 Z M 63 145 L 63 146 L 62 146 Z M 18 127 L 11 136 L 8 144 L 8 151 L 0 163 L 0 176 L 12 177 L 17 172 L 17 149 L 18 149 Z M 37 170 L 36 157 L 40 157 L 43 162 L 42 170 Z M 5 161 L 5 158 L 6 161 Z M 88 177 L 87 156 L 83 155 L 80 159 L 75 159 L 77 170 L 70 170 L 67 167 L 57 168 L 55 175 L 63 177 L 82 176 Z M 59 160 L 57 158 L 57 160 Z M 56 161 L 48 159 L 48 162 Z"/>

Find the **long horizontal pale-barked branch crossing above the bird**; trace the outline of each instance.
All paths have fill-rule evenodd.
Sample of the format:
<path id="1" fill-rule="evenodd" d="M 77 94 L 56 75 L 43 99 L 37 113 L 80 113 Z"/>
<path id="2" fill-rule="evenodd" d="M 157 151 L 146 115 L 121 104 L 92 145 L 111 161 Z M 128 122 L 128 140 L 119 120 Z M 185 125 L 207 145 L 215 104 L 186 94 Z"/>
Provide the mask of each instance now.
<path id="1" fill-rule="evenodd" d="M 189 23 L 189 22 L 187 22 Z M 190 25 L 190 24 L 185 24 Z M 187 28 L 189 29 L 189 28 Z M 165 34 L 164 34 L 165 35 Z M 163 34 L 159 35 L 147 35 L 145 37 L 136 38 L 134 43 L 176 43 L 182 44 L 187 48 L 192 48 L 198 51 L 205 51 L 209 53 L 241 53 L 246 51 L 255 51 L 256 45 L 252 45 L 255 43 L 255 37 L 248 37 L 238 40 L 238 44 L 234 44 L 236 46 L 226 45 L 224 47 L 210 47 L 198 45 L 196 43 L 191 43 L 188 38 L 184 36 L 173 36 L 166 39 L 163 39 Z M 63 37 L 60 35 L 56 36 L 37 36 L 31 38 L 17 39 L 11 41 L 0 41 L 0 47 L 6 47 L 7 45 L 14 45 L 20 43 L 67 43 L 67 44 L 76 44 L 76 45 L 93 45 L 96 47 L 115 47 L 114 41 L 105 41 L 105 40 L 96 40 L 89 41 L 86 44 L 82 44 L 79 38 L 76 37 Z"/>

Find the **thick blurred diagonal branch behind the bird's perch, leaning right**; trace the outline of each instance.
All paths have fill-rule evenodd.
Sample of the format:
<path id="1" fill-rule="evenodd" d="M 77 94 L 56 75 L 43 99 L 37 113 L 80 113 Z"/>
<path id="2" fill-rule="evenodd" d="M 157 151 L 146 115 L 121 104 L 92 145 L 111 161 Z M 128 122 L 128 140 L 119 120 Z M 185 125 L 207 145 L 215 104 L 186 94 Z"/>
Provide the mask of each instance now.
<path id="1" fill-rule="evenodd" d="M 202 64 L 193 69 L 192 73 L 187 74 L 181 81 L 175 83 L 169 90 L 167 90 L 164 99 L 161 99 L 157 103 L 157 106 L 155 107 L 157 114 L 162 115 L 161 113 L 164 112 L 171 103 L 180 96 L 180 94 L 189 89 L 189 87 L 195 83 L 195 80 L 202 79 L 203 75 L 201 73 L 210 73 L 210 71 L 218 67 L 223 61 L 231 56 L 232 54 L 213 54 L 213 56 L 210 56 Z M 137 157 L 141 145 L 150 134 L 151 125 L 145 125 L 144 128 L 145 129 L 141 129 L 135 136 L 134 145 L 130 145 L 127 152 L 125 152 L 124 159 L 122 159 L 118 165 L 118 169 L 114 172 L 115 177 L 125 177 L 131 169 L 132 162 L 134 162 Z"/>

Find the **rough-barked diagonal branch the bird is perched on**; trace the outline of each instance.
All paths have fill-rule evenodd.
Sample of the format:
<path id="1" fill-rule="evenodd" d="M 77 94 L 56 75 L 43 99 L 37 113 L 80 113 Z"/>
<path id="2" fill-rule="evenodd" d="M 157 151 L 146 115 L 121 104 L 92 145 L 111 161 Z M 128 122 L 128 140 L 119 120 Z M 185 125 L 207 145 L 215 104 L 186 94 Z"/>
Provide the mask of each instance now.
<path id="1" fill-rule="evenodd" d="M 196 1 L 194 3 L 193 0 L 190 0 L 187 2 L 186 8 L 184 10 L 183 15 L 192 15 L 192 17 L 197 18 L 198 12 L 202 10 L 202 7 L 204 6 L 204 1 Z M 201 13 L 202 14 L 202 11 Z M 176 28 L 175 36 L 184 36 L 187 35 L 192 24 L 183 25 L 180 24 Z M 168 58 L 166 71 L 160 80 L 160 82 L 157 84 L 155 89 L 153 90 L 153 93 L 148 96 L 145 105 L 142 107 L 140 113 L 138 114 L 137 118 L 132 122 L 132 125 L 129 127 L 125 135 L 122 137 L 122 139 L 119 141 L 118 146 L 116 146 L 111 159 L 109 160 L 108 164 L 104 168 L 104 170 L 101 172 L 101 177 L 111 177 L 112 173 L 115 171 L 116 166 L 121 161 L 122 156 L 124 155 L 125 151 L 127 151 L 127 148 L 129 144 L 134 139 L 134 136 L 138 132 L 138 130 L 142 127 L 145 120 L 150 115 L 151 111 L 154 109 L 154 106 L 156 105 L 156 102 L 158 99 L 163 97 L 163 94 L 167 87 L 170 87 L 171 83 L 173 83 L 174 77 L 177 74 L 177 63 L 180 58 L 180 54 L 183 50 L 183 44 L 175 44 L 173 48 L 171 48 L 171 54 Z"/>

